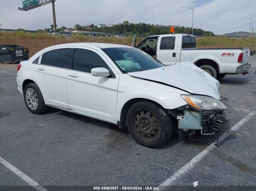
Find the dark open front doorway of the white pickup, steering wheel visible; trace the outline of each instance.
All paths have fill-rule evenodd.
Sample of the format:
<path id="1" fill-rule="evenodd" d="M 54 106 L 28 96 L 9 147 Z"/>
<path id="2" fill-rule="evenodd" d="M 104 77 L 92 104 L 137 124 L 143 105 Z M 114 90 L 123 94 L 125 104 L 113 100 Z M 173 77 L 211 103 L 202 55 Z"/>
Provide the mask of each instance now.
<path id="1" fill-rule="evenodd" d="M 151 56 L 156 55 L 156 46 L 157 46 L 158 38 L 149 38 L 142 43 L 140 43 L 137 48 L 144 51 L 145 53 L 148 53 Z"/>

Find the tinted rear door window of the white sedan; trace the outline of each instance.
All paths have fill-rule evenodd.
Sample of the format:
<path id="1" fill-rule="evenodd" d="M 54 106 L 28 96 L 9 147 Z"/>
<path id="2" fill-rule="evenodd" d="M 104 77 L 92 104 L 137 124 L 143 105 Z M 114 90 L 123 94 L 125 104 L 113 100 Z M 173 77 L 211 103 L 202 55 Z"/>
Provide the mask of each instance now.
<path id="1" fill-rule="evenodd" d="M 68 58 L 70 53 L 70 48 L 51 50 L 43 54 L 41 64 L 59 68 L 68 68 Z"/>

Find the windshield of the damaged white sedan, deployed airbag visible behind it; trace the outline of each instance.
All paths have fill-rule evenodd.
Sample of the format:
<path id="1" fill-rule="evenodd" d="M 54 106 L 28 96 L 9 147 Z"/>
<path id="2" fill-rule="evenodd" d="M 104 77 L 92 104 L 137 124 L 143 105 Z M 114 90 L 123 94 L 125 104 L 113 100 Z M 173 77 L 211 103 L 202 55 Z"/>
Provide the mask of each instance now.
<path id="1" fill-rule="evenodd" d="M 139 72 L 165 66 L 157 59 L 135 48 L 105 48 L 102 50 L 123 73 Z"/>

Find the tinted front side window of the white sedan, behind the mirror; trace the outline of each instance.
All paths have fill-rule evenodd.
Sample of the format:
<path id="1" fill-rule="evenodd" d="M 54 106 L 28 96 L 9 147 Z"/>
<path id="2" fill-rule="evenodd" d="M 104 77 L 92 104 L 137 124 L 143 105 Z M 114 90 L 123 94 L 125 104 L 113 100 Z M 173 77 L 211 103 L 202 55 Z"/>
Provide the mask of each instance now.
<path id="1" fill-rule="evenodd" d="M 92 68 L 107 68 L 106 62 L 95 52 L 86 49 L 75 49 L 72 69 L 91 73 Z"/>

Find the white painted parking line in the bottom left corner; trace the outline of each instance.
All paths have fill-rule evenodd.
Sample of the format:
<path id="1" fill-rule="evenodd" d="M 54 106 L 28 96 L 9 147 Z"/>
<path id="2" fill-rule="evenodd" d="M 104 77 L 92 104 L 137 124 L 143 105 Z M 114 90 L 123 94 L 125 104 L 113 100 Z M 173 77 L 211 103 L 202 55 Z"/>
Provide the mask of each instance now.
<path id="1" fill-rule="evenodd" d="M 18 168 L 12 166 L 12 164 L 5 161 L 5 159 L 0 157 L 0 162 L 5 165 L 9 170 L 12 170 L 15 174 L 17 174 L 19 177 L 21 177 L 23 180 L 25 180 L 30 186 L 33 186 L 38 191 L 48 191 L 47 189 L 40 186 L 37 182 L 29 178 L 27 175 L 25 175 L 22 171 L 20 171 Z"/>

